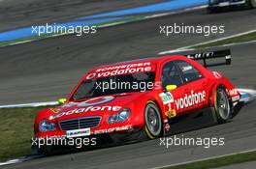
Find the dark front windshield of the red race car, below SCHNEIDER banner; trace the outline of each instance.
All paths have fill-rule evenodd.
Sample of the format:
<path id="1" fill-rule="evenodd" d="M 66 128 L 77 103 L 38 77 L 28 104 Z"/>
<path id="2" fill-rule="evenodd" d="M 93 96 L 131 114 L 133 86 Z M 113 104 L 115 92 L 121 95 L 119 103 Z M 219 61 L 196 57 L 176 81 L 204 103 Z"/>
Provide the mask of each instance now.
<path id="1" fill-rule="evenodd" d="M 142 72 L 86 79 L 80 83 L 72 99 L 87 99 L 113 94 L 144 92 L 152 90 L 155 72 Z"/>

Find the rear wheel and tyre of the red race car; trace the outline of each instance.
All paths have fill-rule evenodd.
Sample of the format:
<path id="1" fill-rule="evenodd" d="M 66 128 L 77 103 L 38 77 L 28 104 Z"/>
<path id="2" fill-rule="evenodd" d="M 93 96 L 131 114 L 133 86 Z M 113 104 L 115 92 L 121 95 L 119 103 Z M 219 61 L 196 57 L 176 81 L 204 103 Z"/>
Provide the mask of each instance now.
<path id="1" fill-rule="evenodd" d="M 232 119 L 232 107 L 223 87 L 218 87 L 215 91 L 214 109 L 219 124 L 226 123 Z"/>

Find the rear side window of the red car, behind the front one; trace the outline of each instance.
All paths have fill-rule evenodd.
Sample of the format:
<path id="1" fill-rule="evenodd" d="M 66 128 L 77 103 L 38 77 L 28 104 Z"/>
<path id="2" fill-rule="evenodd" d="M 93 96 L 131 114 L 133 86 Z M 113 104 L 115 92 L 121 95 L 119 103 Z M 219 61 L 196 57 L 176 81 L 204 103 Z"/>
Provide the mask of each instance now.
<path id="1" fill-rule="evenodd" d="M 176 61 L 176 66 L 181 70 L 184 83 L 188 83 L 203 77 L 199 70 L 195 69 L 192 65 L 184 61 Z"/>

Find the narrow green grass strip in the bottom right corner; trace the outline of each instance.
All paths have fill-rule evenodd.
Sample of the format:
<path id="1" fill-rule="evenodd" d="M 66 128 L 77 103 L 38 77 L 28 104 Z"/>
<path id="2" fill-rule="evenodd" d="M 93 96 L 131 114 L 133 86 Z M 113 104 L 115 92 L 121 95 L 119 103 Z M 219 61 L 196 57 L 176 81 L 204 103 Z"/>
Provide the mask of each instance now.
<path id="1" fill-rule="evenodd" d="M 238 155 L 227 155 L 224 157 L 218 157 L 214 159 L 208 159 L 200 162 L 193 162 L 183 165 L 176 165 L 173 167 L 166 167 L 165 169 L 208 169 L 254 160 L 256 160 L 256 152 L 250 152 Z"/>

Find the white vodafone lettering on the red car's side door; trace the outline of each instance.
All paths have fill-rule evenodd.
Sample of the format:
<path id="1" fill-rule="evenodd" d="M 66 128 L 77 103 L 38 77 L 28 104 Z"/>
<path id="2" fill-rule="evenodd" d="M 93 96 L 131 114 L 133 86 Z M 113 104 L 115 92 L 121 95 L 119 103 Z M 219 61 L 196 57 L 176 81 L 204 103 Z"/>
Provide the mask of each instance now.
<path id="1" fill-rule="evenodd" d="M 182 109 L 182 108 L 186 108 L 189 106 L 192 106 L 194 104 L 198 104 L 201 103 L 203 101 L 206 100 L 206 92 L 199 92 L 199 93 L 195 93 L 192 90 L 190 95 L 186 95 L 184 98 L 180 98 L 180 99 L 176 99 L 176 109 Z"/>

